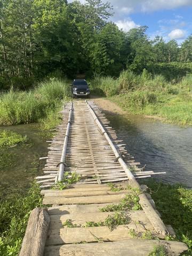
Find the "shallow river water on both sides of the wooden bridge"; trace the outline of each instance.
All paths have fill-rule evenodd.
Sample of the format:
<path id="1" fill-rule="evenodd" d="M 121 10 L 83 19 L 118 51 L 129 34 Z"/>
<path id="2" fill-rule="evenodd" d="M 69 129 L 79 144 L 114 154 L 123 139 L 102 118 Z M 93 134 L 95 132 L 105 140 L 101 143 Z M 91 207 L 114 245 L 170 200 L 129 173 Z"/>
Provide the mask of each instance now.
<path id="1" fill-rule="evenodd" d="M 154 178 L 192 187 L 192 127 L 165 124 L 141 116 L 106 115 L 136 162 L 146 165 L 146 171 L 166 171 Z M 37 125 L 0 127 L 0 132 L 4 129 L 27 135 L 28 144 L 0 149 L 0 195 L 27 187 L 42 173 L 45 161 L 39 162 L 39 157 L 47 155 L 48 146 Z"/>

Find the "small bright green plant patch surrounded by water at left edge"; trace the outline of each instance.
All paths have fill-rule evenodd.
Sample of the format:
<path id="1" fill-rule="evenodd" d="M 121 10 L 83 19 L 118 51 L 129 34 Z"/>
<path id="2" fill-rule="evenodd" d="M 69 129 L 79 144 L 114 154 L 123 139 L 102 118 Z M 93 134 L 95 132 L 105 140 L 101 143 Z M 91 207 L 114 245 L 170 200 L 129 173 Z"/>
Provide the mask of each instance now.
<path id="1" fill-rule="evenodd" d="M 23 137 L 22 135 L 11 132 L 11 131 L 3 131 L 0 133 L 0 147 L 10 147 L 17 145 L 18 143 L 25 143 L 27 141 L 27 137 Z"/>

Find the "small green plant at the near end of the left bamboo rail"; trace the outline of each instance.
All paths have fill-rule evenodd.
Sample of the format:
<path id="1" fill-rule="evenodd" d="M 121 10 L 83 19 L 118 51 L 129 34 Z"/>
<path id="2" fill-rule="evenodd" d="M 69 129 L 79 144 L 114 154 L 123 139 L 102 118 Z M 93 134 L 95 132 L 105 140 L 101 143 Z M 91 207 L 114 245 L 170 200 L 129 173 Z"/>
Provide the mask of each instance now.
<path id="1" fill-rule="evenodd" d="M 63 180 L 62 181 L 58 181 L 57 183 L 55 183 L 52 186 L 52 189 L 59 189 L 59 190 L 63 190 L 65 188 L 68 188 L 69 185 L 78 182 L 79 180 L 81 180 L 81 175 L 77 174 L 76 172 L 65 172 L 63 174 Z"/>

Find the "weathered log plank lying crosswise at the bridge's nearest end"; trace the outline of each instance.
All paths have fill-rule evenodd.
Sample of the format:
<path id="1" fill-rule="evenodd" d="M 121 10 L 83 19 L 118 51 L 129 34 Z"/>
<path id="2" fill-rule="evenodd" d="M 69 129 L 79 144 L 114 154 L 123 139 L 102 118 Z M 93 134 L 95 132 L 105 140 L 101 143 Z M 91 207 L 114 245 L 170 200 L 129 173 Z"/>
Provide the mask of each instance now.
<path id="1" fill-rule="evenodd" d="M 179 256 L 187 245 L 174 241 L 129 239 L 122 242 L 46 246 L 45 256 L 148 256 L 154 246 L 164 245 L 170 255 Z"/>

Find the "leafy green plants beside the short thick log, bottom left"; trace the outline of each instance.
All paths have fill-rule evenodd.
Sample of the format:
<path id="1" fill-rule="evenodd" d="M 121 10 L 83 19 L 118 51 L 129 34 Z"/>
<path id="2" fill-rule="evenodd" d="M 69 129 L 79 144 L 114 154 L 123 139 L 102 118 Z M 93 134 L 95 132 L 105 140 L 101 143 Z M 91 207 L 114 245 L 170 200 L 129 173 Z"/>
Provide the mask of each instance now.
<path id="1" fill-rule="evenodd" d="M 40 188 L 33 183 L 26 193 L 7 196 L 0 205 L 0 254 L 17 256 L 25 235 L 30 211 L 42 207 Z"/>

